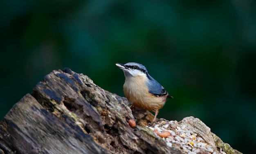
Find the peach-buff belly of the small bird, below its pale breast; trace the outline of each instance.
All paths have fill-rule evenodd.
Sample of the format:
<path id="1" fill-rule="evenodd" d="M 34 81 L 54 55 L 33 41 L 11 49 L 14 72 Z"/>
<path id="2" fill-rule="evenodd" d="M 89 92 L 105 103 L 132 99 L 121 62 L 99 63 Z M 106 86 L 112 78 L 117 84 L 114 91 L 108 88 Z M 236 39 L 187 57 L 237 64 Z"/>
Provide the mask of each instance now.
<path id="1" fill-rule="evenodd" d="M 148 92 L 148 89 L 128 88 L 124 84 L 124 95 L 133 106 L 148 111 L 155 111 L 162 108 L 166 101 L 166 96 L 157 97 Z"/>

